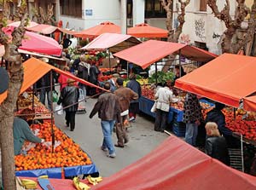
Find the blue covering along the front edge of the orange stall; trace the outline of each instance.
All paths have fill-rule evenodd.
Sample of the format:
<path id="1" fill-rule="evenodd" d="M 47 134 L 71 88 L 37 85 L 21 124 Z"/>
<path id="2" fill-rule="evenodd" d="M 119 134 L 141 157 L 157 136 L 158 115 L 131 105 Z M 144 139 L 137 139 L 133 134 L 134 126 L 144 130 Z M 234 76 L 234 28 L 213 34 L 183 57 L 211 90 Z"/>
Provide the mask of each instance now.
<path id="1" fill-rule="evenodd" d="M 78 175 L 87 175 L 98 172 L 95 164 L 90 165 L 78 165 L 72 167 L 63 167 L 65 177 L 69 176 L 78 176 Z M 49 178 L 61 179 L 62 177 L 61 168 L 49 168 L 49 169 L 40 169 L 40 170 L 21 170 L 16 171 L 15 176 L 29 176 L 29 177 L 38 177 L 47 175 Z"/>

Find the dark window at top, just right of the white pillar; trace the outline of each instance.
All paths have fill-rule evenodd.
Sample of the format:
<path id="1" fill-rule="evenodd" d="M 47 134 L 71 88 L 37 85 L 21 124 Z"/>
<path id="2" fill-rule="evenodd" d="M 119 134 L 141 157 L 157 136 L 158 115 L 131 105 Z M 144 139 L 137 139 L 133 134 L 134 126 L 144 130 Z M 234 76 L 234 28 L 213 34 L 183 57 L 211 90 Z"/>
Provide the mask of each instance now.
<path id="1" fill-rule="evenodd" d="M 166 18 L 166 11 L 159 0 L 145 1 L 145 18 Z"/>

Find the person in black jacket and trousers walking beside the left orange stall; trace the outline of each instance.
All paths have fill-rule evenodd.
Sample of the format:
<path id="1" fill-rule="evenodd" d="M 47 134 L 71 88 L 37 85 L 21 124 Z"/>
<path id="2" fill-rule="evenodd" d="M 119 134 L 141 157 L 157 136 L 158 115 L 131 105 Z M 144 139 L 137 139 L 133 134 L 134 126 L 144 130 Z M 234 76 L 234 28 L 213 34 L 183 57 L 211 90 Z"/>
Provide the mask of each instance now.
<path id="1" fill-rule="evenodd" d="M 61 97 L 57 104 L 60 105 L 61 103 L 63 107 L 67 107 L 65 108 L 66 124 L 73 131 L 75 129 L 75 116 L 79 107 L 79 88 L 75 86 L 75 81 L 71 78 L 67 79 L 67 86 L 61 90 Z"/>

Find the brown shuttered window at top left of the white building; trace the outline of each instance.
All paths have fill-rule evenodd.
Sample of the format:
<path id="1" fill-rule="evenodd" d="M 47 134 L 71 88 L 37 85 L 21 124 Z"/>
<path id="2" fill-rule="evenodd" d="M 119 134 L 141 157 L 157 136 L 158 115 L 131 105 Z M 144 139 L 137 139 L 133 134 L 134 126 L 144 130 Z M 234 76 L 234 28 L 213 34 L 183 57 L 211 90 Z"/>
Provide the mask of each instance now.
<path id="1" fill-rule="evenodd" d="M 82 18 L 82 0 L 61 0 L 61 14 Z"/>

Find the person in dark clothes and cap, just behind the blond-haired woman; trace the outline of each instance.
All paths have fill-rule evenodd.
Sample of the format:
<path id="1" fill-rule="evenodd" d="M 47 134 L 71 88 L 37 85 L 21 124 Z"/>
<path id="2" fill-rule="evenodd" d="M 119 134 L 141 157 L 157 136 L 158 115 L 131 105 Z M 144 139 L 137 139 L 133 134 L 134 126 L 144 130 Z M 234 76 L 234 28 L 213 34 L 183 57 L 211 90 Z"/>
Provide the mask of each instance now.
<path id="1" fill-rule="evenodd" d="M 216 102 L 215 107 L 210 112 L 207 112 L 206 123 L 216 123 L 220 134 L 224 135 L 228 147 L 236 147 L 236 139 L 232 136 L 232 131 L 226 127 L 225 116 L 224 113 L 221 112 L 224 107 L 224 104 Z"/>

